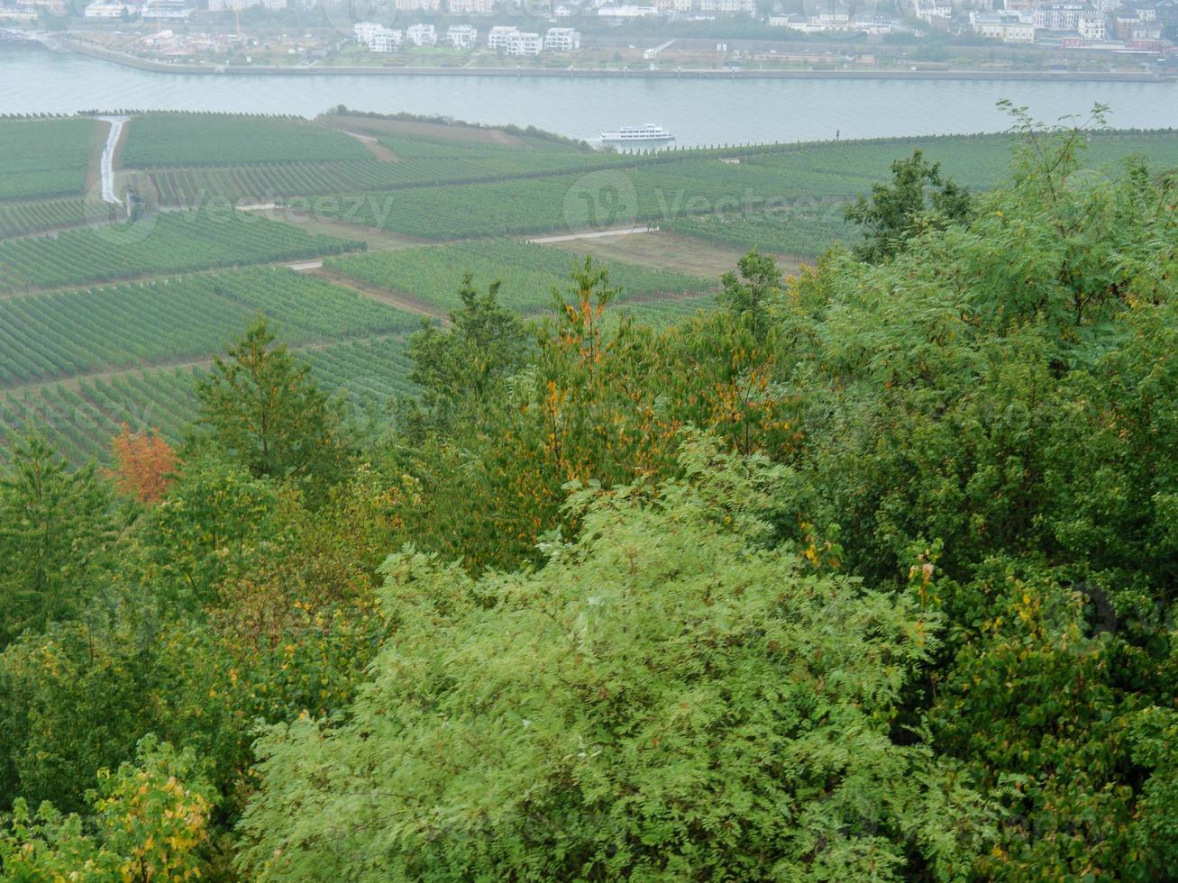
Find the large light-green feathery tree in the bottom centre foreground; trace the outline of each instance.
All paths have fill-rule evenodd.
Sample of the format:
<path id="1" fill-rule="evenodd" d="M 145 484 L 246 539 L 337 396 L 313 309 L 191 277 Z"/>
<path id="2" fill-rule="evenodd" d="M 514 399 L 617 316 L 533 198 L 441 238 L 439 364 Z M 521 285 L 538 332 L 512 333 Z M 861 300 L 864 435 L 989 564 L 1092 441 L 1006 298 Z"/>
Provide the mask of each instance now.
<path id="1" fill-rule="evenodd" d="M 346 722 L 263 737 L 243 871 L 949 878 L 984 849 L 985 804 L 888 736 L 935 619 L 768 547 L 788 471 L 707 440 L 680 465 L 574 494 L 540 572 L 391 557 L 396 640 Z"/>

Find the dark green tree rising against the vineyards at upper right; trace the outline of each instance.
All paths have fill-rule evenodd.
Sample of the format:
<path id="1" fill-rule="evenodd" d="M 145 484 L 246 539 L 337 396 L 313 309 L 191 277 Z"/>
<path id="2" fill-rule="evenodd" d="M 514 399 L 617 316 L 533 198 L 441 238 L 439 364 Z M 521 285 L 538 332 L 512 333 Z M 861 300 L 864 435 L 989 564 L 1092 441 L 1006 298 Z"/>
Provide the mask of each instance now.
<path id="1" fill-rule="evenodd" d="M 847 206 L 847 220 L 862 227 L 855 257 L 878 264 L 908 247 L 926 230 L 940 230 L 969 218 L 968 190 L 941 175 L 941 164 L 929 162 L 920 150 L 892 164 L 891 184 L 872 185 Z"/>

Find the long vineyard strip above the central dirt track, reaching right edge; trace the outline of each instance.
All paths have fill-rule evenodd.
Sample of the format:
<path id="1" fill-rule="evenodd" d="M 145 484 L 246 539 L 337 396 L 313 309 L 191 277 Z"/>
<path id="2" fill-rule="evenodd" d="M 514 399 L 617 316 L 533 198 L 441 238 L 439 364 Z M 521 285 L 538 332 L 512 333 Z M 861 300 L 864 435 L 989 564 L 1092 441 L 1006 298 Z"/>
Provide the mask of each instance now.
<path id="1" fill-rule="evenodd" d="M 915 147 L 926 148 L 933 160 L 946 159 L 947 172 L 974 187 L 998 180 L 1010 161 L 1010 139 L 1004 135 L 782 145 L 730 161 L 686 152 L 683 158 L 669 154 L 575 175 L 370 192 L 362 205 L 340 207 L 337 217 L 348 214 L 349 220 L 395 233 L 454 239 L 662 225 L 760 207 L 796 212 L 869 191 L 888 175 L 892 161 Z M 1173 166 L 1178 132 L 1093 135 L 1086 161 L 1099 168 L 1132 152 L 1141 152 L 1154 166 Z M 331 214 L 331 208 L 324 213 Z"/>

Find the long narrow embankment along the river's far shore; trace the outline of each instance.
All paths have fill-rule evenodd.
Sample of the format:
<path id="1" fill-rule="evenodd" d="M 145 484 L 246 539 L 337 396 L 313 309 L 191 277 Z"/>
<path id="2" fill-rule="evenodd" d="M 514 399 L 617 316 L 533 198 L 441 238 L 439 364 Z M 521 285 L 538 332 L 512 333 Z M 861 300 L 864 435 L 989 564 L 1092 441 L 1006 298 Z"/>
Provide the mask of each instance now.
<path id="1" fill-rule="evenodd" d="M 1178 82 L 1178 74 L 1114 73 L 1093 71 L 763 71 L 763 69 L 649 69 L 542 68 L 542 67 L 369 67 L 369 66 L 273 66 L 273 65 L 191 65 L 154 61 L 124 52 L 105 49 L 68 38 L 46 38 L 47 48 L 133 67 L 139 71 L 206 75 L 313 75 L 313 77 L 494 77 L 544 79 L 651 79 L 651 80 L 973 80 L 1053 82 Z"/>

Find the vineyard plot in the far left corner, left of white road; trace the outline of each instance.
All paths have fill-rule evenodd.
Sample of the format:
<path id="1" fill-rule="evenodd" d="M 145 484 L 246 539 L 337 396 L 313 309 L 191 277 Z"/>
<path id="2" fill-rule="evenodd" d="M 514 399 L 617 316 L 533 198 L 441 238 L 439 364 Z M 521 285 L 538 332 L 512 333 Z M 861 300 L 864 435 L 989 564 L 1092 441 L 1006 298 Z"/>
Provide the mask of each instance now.
<path id="1" fill-rule="evenodd" d="M 88 119 L 0 119 L 0 200 L 80 195 L 98 135 Z"/>

